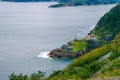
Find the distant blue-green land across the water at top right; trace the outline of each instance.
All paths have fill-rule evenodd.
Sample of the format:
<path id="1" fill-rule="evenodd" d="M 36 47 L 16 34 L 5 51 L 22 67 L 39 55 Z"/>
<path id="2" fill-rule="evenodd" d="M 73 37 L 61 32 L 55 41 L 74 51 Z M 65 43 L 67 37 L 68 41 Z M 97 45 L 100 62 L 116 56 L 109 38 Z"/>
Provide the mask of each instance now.
<path id="1" fill-rule="evenodd" d="M 98 4 L 115 4 L 120 3 L 120 0 L 58 0 L 59 4 L 51 5 L 49 7 L 65 7 L 65 6 L 79 6 L 79 5 L 98 5 Z"/>

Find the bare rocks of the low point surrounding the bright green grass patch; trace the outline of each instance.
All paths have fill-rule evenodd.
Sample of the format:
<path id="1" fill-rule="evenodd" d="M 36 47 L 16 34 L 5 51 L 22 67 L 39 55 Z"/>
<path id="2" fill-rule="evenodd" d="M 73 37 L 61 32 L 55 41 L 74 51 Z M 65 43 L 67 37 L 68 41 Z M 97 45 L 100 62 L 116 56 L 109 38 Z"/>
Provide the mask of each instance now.
<path id="1" fill-rule="evenodd" d="M 85 42 L 87 44 L 86 49 L 77 50 L 76 52 L 74 52 L 72 42 L 78 42 L 78 43 Z M 74 39 L 73 41 L 69 41 L 67 44 L 62 45 L 61 48 L 53 49 L 50 53 L 48 53 L 48 56 L 51 58 L 61 58 L 61 59 L 77 58 L 88 53 L 89 51 L 95 48 L 102 46 L 102 44 L 103 41 L 95 39 L 95 37 L 93 37 L 90 34 L 87 35 L 84 40 Z"/>

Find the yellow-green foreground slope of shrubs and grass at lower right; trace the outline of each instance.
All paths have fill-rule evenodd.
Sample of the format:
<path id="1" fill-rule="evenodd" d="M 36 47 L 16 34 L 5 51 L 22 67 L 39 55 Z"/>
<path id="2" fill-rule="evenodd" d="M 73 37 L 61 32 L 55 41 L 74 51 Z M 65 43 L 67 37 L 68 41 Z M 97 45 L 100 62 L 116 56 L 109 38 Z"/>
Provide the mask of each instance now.
<path id="1" fill-rule="evenodd" d="M 111 52 L 111 55 L 101 59 L 101 57 Z M 92 50 L 86 55 L 73 60 L 73 62 L 63 71 L 52 74 L 47 80 L 82 80 L 90 79 L 94 74 L 96 78 L 107 78 L 120 76 L 120 35 L 113 43 Z M 109 65 L 110 64 L 110 65 Z M 118 71 L 117 71 L 118 70 Z"/>

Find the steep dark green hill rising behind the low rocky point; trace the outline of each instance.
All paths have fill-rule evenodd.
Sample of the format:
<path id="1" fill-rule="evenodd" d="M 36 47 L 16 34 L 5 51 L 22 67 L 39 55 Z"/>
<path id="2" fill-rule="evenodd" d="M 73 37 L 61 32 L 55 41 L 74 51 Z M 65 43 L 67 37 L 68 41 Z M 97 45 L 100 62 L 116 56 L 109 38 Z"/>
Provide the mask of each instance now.
<path id="1" fill-rule="evenodd" d="M 120 32 L 120 4 L 112 8 L 98 22 L 95 29 L 91 32 L 96 36 L 106 40 L 114 39 Z"/>

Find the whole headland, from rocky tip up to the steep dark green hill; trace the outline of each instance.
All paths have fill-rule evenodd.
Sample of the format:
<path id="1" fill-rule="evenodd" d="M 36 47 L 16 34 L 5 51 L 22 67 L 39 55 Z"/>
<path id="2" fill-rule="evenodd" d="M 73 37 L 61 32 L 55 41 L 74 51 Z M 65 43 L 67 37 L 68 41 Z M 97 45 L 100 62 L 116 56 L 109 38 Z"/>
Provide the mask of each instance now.
<path id="1" fill-rule="evenodd" d="M 120 32 L 119 6 L 110 10 L 98 21 L 95 28 L 87 36 L 74 39 L 53 49 L 48 55 L 52 58 L 77 58 L 91 50 L 112 43 Z"/>

